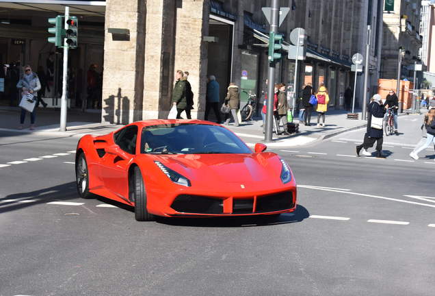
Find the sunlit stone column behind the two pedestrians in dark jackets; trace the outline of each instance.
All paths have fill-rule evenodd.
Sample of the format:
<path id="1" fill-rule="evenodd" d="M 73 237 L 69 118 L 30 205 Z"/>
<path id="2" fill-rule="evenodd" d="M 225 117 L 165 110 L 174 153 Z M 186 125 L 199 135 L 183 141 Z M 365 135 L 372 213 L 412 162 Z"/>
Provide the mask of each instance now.
<path id="1" fill-rule="evenodd" d="M 181 8 L 176 9 L 174 69 L 190 73 L 189 82 L 194 93 L 192 119 L 204 118 L 208 61 L 207 44 L 202 37 L 207 36 L 208 31 L 209 1 L 183 0 Z"/>

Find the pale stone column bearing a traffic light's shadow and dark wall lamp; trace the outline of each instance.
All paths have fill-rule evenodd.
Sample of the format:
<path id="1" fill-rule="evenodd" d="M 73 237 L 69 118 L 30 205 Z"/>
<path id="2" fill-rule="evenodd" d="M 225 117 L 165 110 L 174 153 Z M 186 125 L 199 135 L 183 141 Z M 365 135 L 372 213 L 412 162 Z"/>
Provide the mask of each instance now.
<path id="1" fill-rule="evenodd" d="M 107 0 L 101 122 L 142 119 L 146 0 Z M 129 29 L 130 40 L 114 41 L 108 28 Z"/>

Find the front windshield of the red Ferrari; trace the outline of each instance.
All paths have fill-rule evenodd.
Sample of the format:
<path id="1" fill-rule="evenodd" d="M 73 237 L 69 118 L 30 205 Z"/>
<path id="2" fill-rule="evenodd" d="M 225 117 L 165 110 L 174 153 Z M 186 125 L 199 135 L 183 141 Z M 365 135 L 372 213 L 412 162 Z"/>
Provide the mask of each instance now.
<path id="1" fill-rule="evenodd" d="M 235 134 L 217 125 L 174 123 L 142 130 L 141 153 L 252 153 Z"/>

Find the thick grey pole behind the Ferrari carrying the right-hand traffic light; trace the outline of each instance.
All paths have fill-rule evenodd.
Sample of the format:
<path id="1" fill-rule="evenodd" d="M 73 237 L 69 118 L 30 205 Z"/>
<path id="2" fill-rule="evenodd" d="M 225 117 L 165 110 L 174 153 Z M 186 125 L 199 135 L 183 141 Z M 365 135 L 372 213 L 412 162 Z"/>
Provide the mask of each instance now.
<path id="1" fill-rule="evenodd" d="M 278 0 L 272 0 L 271 5 L 271 22 L 270 32 L 278 33 L 278 16 L 280 12 Z M 269 69 L 267 70 L 267 112 L 266 112 L 266 125 L 265 125 L 265 142 L 272 142 L 272 128 L 274 116 L 274 89 L 275 89 L 275 63 L 269 62 Z"/>

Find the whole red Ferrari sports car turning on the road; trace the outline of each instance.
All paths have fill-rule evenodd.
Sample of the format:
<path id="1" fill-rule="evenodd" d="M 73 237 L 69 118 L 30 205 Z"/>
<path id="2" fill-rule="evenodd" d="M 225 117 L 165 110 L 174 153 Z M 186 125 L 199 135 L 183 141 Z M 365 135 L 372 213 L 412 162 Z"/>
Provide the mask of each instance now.
<path id="1" fill-rule="evenodd" d="M 137 221 L 292 212 L 293 173 L 265 149 L 209 121 L 138 121 L 79 140 L 77 190 L 134 206 Z"/>

